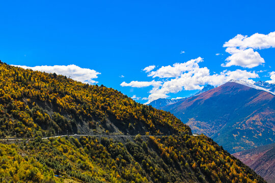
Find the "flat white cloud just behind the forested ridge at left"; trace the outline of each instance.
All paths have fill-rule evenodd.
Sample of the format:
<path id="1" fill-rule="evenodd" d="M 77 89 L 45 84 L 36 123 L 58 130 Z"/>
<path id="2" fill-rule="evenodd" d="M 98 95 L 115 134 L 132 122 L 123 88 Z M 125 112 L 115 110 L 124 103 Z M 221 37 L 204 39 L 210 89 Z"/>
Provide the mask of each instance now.
<path id="1" fill-rule="evenodd" d="M 14 65 L 15 66 L 15 65 Z M 80 68 L 75 65 L 68 65 L 68 66 L 35 66 L 35 67 L 28 67 L 28 66 L 16 66 L 21 67 L 24 69 L 32 69 L 34 71 L 41 71 L 46 73 L 56 73 L 58 75 L 64 75 L 74 79 L 76 81 L 80 81 L 83 83 L 97 83 L 93 79 L 97 78 L 98 74 L 101 74 L 95 70 Z"/>

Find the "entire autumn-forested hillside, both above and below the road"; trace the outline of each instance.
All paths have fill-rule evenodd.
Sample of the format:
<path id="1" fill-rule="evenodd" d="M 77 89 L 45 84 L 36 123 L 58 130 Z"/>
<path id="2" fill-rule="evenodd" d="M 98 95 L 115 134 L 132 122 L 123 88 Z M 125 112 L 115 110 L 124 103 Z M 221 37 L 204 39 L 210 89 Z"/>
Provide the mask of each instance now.
<path id="1" fill-rule="evenodd" d="M 0 143 L 2 182 L 265 182 L 170 112 L 56 74 L 0 70 L 1 141 L 11 143 Z M 113 136 L 41 139 L 67 131 Z"/>

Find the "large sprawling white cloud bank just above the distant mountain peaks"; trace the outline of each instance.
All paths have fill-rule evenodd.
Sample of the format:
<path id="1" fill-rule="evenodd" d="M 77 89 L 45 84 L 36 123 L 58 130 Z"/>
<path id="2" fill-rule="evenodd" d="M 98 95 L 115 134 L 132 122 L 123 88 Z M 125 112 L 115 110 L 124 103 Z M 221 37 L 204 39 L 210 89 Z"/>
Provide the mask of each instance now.
<path id="1" fill-rule="evenodd" d="M 205 84 L 214 86 L 221 85 L 231 79 L 246 80 L 251 82 L 251 78 L 257 78 L 259 75 L 246 70 L 227 71 L 224 70 L 218 74 L 210 74 L 207 67 L 201 68 L 199 63 L 203 58 L 198 57 L 185 63 L 176 63 L 173 66 L 162 66 L 156 71 L 148 74 L 148 77 L 165 78 L 162 81 L 131 81 L 123 82 L 121 86 L 147 87 L 153 86 L 149 91 L 148 103 L 159 99 L 167 98 L 170 93 L 178 93 L 184 90 L 202 89 Z"/>

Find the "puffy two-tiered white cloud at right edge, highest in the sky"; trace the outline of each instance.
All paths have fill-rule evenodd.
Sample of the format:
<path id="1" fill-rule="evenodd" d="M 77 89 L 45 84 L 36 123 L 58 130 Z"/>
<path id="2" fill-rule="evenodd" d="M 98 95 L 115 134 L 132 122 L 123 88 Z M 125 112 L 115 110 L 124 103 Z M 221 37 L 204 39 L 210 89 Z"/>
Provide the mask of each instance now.
<path id="1" fill-rule="evenodd" d="M 226 52 L 231 56 L 226 58 L 227 63 L 222 67 L 241 66 L 244 68 L 254 68 L 265 63 L 255 49 L 266 49 L 275 47 L 275 32 L 268 35 L 254 34 L 250 37 L 237 35 L 223 45 Z"/>

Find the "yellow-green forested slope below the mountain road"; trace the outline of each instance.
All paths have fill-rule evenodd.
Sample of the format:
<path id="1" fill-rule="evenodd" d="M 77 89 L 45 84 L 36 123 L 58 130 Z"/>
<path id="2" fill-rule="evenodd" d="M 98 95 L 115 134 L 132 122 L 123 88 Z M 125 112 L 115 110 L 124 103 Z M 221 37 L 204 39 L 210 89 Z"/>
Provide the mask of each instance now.
<path id="1" fill-rule="evenodd" d="M 265 182 L 203 135 L 38 137 L 0 151 L 2 182 Z"/>

